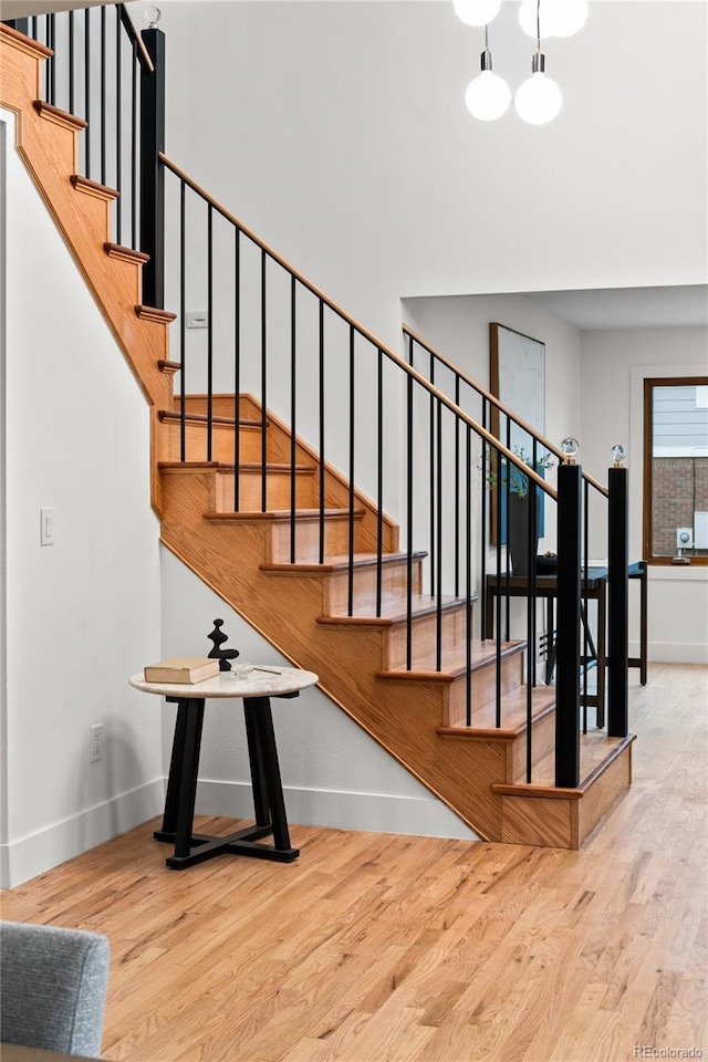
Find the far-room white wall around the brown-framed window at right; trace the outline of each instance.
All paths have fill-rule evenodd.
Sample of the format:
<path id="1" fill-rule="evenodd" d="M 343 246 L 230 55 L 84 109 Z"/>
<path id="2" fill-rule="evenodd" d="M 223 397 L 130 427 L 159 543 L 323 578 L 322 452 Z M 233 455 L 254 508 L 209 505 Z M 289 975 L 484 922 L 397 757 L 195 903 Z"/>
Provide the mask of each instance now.
<path id="1" fill-rule="evenodd" d="M 583 460 L 604 469 L 610 449 L 628 449 L 629 554 L 642 556 L 643 420 L 646 376 L 708 375 L 708 330 L 622 329 L 582 333 Z M 601 473 L 602 472 L 602 473 Z M 606 549 L 605 542 L 598 550 Z M 632 586 L 636 594 L 636 586 Z M 631 607 L 631 655 L 637 610 Z M 649 566 L 649 658 L 708 663 L 708 570 Z"/>

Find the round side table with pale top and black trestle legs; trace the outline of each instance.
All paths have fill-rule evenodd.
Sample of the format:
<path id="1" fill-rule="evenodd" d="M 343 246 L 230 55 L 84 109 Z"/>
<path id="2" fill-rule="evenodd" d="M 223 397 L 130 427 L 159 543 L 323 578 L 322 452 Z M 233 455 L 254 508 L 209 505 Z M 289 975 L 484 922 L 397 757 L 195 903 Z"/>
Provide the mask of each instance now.
<path id="1" fill-rule="evenodd" d="M 180 871 L 229 852 L 279 863 L 292 863 L 300 855 L 291 847 L 283 800 L 270 697 L 296 697 L 301 689 L 314 686 L 317 676 L 296 667 L 257 667 L 246 677 L 221 671 L 195 685 L 146 683 L 134 675 L 131 685 L 147 694 L 158 694 L 177 705 L 175 738 L 167 780 L 165 813 L 156 841 L 175 845 L 165 861 Z M 243 701 L 256 823 L 225 837 L 194 832 L 199 750 L 207 700 L 239 698 Z M 273 844 L 262 844 L 272 834 Z"/>

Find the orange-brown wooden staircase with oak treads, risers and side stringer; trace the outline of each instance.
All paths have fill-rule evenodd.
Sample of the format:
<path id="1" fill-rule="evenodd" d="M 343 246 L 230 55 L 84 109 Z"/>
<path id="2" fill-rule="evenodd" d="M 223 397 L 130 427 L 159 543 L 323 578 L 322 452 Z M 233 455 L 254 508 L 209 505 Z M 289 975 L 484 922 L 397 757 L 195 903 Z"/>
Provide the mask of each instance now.
<path id="1" fill-rule="evenodd" d="M 467 585 L 456 575 L 442 592 L 442 501 L 424 548 L 412 519 L 402 543 L 381 497 L 356 487 L 353 457 L 340 471 L 262 394 L 187 391 L 184 333 L 180 360 L 169 354 L 175 314 L 143 304 L 146 256 L 112 242 L 116 192 L 75 173 L 85 123 L 38 102 L 49 50 L 0 34 L 18 150 L 149 403 L 164 544 L 482 837 L 579 847 L 631 783 L 633 738 L 583 735 L 580 784 L 555 785 L 556 691 L 525 685 L 524 639 L 480 641 L 469 563 Z M 375 350 L 379 365 L 382 353 L 399 361 Z M 353 352 L 351 333 L 352 366 Z M 431 435 L 454 417 L 469 450 L 469 418 L 400 365 L 408 395 L 415 381 L 438 403 Z"/>

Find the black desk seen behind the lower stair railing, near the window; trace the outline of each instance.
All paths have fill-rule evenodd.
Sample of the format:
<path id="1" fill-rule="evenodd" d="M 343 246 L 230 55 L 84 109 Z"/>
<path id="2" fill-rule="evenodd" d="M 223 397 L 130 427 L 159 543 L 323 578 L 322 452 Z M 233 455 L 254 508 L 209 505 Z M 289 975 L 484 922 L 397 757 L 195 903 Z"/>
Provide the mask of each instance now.
<path id="1" fill-rule="evenodd" d="M 597 627 L 596 641 L 593 642 L 587 624 L 587 617 L 582 611 L 582 620 L 587 635 L 589 654 L 581 657 L 581 663 L 585 666 L 596 665 L 597 667 L 597 693 L 587 695 L 585 704 L 593 705 L 597 709 L 597 726 L 603 727 L 605 722 L 605 669 L 607 666 L 607 569 L 592 566 L 581 579 L 581 601 L 597 602 Z M 639 668 L 639 683 L 646 686 L 647 680 L 647 563 L 646 561 L 635 561 L 627 569 L 629 579 L 639 580 L 639 656 L 631 657 L 629 667 Z M 549 641 L 555 628 L 554 622 L 554 602 L 558 596 L 558 579 L 555 575 L 537 575 L 535 594 L 546 602 L 546 631 Z M 525 575 L 507 575 L 502 572 L 500 575 L 488 575 L 485 589 L 485 637 L 494 637 L 494 602 L 497 611 L 499 610 L 502 597 L 528 597 L 529 580 Z M 550 652 L 550 646 L 549 646 Z"/>

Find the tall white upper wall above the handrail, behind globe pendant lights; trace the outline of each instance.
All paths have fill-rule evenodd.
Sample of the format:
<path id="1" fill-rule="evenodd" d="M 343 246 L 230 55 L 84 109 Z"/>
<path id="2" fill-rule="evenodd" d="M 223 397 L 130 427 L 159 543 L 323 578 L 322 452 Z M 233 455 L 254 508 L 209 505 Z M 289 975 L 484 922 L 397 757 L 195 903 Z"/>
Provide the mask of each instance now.
<path id="1" fill-rule="evenodd" d="M 160 9 L 168 154 L 385 341 L 399 296 L 705 281 L 706 3 L 592 3 L 545 46 L 543 127 L 471 118 L 483 33 L 449 2 Z M 491 29 L 514 87 L 516 14 Z"/>

